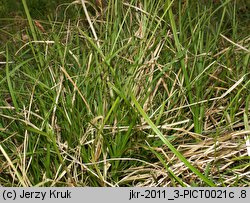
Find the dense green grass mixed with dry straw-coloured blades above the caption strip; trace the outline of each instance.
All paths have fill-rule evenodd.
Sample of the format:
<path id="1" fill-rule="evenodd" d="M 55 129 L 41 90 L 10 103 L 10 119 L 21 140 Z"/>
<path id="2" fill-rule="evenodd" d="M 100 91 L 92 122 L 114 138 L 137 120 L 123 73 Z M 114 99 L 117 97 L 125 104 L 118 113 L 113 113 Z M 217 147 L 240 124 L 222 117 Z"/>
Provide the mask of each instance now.
<path id="1" fill-rule="evenodd" d="M 0 19 L 0 185 L 250 185 L 247 1 L 22 4 L 20 31 Z"/>

